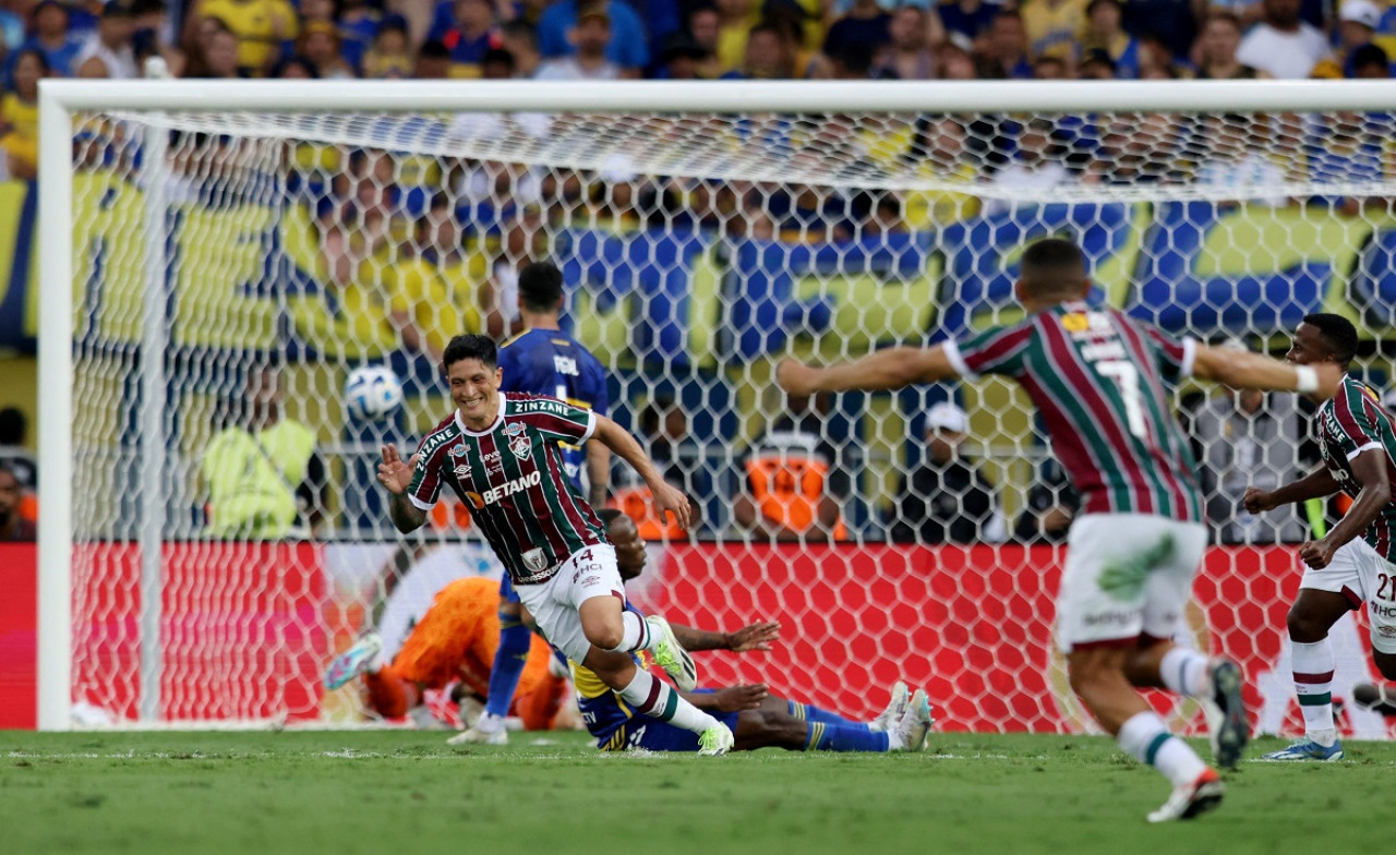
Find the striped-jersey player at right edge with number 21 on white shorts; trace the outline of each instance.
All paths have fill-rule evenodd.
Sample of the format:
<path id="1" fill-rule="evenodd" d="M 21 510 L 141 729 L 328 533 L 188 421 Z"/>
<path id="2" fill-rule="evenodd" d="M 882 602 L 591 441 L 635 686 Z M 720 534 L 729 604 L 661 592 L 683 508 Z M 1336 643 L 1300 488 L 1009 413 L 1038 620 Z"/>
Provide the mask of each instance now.
<path id="1" fill-rule="evenodd" d="M 1357 330 L 1337 314 L 1307 314 L 1286 355 L 1294 365 L 1332 365 L 1347 370 L 1357 353 Z M 1396 432 L 1372 388 L 1351 374 L 1314 415 L 1323 467 L 1275 490 L 1251 488 L 1245 510 L 1258 514 L 1290 502 L 1339 490 L 1353 507 L 1319 541 L 1300 546 L 1304 580 L 1289 613 L 1294 690 L 1304 714 L 1304 739 L 1266 760 L 1342 760 L 1333 726 L 1333 651 L 1328 630 L 1365 602 L 1372 659 L 1396 679 Z"/>

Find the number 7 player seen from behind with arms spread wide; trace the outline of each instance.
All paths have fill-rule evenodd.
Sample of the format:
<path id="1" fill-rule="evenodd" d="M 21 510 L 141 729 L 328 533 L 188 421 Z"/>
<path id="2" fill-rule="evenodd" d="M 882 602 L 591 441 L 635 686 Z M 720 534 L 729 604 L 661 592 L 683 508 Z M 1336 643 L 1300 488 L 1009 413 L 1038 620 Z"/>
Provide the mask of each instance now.
<path id="1" fill-rule="evenodd" d="M 786 360 L 776 379 L 792 394 L 980 374 L 1018 380 L 1082 495 L 1057 594 L 1057 643 L 1067 654 L 1071 686 L 1121 749 L 1173 784 L 1149 820 L 1189 819 L 1222 801 L 1222 781 L 1168 733 L 1136 687 L 1202 700 L 1223 767 L 1240 759 L 1249 722 L 1235 664 L 1209 662 L 1170 640 L 1208 536 L 1195 467 L 1164 384 L 1195 376 L 1234 387 L 1332 394 L 1340 372 L 1174 339 L 1117 309 L 1092 307 L 1086 258 L 1068 240 L 1029 246 L 1015 292 L 1026 312 L 1018 324 L 933 348 L 888 348 L 829 367 Z"/>

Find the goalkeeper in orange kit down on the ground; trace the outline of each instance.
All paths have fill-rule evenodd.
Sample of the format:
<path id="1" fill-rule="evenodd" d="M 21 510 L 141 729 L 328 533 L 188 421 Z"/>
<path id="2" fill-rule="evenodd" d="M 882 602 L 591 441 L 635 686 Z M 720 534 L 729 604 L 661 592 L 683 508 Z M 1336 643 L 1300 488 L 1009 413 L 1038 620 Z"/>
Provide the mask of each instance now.
<path id="1" fill-rule="evenodd" d="M 500 645 L 498 611 L 498 580 L 458 578 L 437 591 L 392 662 L 380 664 L 383 640 L 367 633 L 329 665 L 325 689 L 332 692 L 363 676 L 369 708 L 384 718 L 406 715 L 422 703 L 424 690 L 456 680 L 458 697 L 484 701 Z M 550 671 L 551 659 L 553 650 L 535 634 L 510 706 L 510 715 L 524 719 L 525 731 L 551 729 L 567 700 L 568 682 Z"/>

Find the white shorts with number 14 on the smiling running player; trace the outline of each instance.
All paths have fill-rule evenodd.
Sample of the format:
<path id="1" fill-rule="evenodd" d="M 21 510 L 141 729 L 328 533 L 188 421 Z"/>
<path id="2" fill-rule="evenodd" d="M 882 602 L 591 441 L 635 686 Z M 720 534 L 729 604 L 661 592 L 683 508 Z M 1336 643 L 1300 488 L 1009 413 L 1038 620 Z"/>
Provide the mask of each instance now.
<path id="1" fill-rule="evenodd" d="M 577 609 L 592 597 L 616 597 L 625 604 L 616 549 L 609 543 L 572 553 L 546 583 L 514 585 L 514 590 L 543 637 L 574 662 L 585 659 L 592 650 Z"/>

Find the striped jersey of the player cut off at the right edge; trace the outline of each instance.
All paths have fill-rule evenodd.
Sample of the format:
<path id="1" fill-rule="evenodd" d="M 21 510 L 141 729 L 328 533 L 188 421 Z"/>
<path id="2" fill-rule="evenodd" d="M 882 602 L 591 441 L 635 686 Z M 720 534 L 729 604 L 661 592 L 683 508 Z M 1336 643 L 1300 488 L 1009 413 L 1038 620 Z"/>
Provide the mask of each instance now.
<path id="1" fill-rule="evenodd" d="M 1323 465 L 1343 488 L 1343 492 L 1357 499 L 1362 482 L 1353 475 L 1353 460 L 1364 451 L 1386 454 L 1386 478 L 1396 485 L 1396 432 L 1392 419 L 1382 409 L 1381 398 L 1365 383 L 1351 374 L 1343 377 L 1337 395 L 1323 401 L 1315 415 L 1318 419 L 1318 444 L 1323 453 Z M 1382 509 L 1381 516 L 1362 534 L 1376 553 L 1388 562 L 1396 560 L 1396 502 Z"/>

